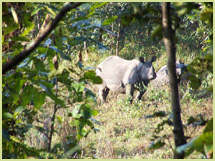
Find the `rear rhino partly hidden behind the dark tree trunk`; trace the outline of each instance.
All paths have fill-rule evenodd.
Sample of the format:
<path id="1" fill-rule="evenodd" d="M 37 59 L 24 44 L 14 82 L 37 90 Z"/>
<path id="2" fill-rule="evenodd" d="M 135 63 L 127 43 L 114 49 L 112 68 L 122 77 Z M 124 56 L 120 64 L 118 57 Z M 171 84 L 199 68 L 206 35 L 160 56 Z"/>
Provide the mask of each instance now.
<path id="1" fill-rule="evenodd" d="M 181 76 L 186 70 L 187 65 L 182 63 L 181 61 L 176 61 L 175 63 L 176 63 L 176 76 L 177 76 L 178 84 L 180 84 Z M 159 88 L 169 83 L 169 73 L 168 73 L 167 65 L 164 65 L 163 67 L 161 67 L 156 74 L 157 74 L 156 79 L 151 81 L 151 84 L 154 87 Z"/>

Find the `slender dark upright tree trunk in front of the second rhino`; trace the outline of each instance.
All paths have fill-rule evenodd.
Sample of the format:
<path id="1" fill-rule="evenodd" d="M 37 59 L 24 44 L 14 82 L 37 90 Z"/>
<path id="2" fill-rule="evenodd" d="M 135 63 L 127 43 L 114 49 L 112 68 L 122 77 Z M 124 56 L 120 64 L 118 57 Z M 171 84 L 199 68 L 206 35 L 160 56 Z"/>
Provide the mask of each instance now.
<path id="1" fill-rule="evenodd" d="M 175 47 L 175 32 L 172 29 L 171 24 L 171 15 L 170 15 L 170 3 L 163 2 L 162 4 L 162 25 L 163 25 L 163 36 L 164 36 L 164 45 L 168 55 L 168 71 L 169 71 L 169 80 L 170 80 L 170 90 L 171 90 L 171 106 L 173 113 L 173 135 L 175 147 L 183 145 L 186 143 L 184 137 L 184 131 L 181 121 L 180 113 L 180 103 L 178 95 L 178 83 L 176 77 L 176 47 Z M 183 159 L 183 154 L 174 153 L 175 159 Z"/>

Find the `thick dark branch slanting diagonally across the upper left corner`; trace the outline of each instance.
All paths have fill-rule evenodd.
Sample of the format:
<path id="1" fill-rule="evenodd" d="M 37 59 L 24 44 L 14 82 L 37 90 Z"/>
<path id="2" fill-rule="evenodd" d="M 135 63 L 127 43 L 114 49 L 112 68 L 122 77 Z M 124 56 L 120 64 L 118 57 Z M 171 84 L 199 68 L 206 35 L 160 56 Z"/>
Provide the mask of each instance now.
<path id="1" fill-rule="evenodd" d="M 10 61 L 6 62 L 2 66 L 2 74 L 5 74 L 7 71 L 11 70 L 13 67 L 18 65 L 21 61 L 27 58 L 30 53 L 36 49 L 39 44 L 51 33 L 51 31 L 57 26 L 59 21 L 66 15 L 68 11 L 71 9 L 75 9 L 80 6 L 83 2 L 77 3 L 65 3 L 64 7 L 60 10 L 60 12 L 56 15 L 55 19 L 41 32 L 38 37 L 33 40 L 23 51 L 21 51 L 18 55 L 14 56 Z"/>

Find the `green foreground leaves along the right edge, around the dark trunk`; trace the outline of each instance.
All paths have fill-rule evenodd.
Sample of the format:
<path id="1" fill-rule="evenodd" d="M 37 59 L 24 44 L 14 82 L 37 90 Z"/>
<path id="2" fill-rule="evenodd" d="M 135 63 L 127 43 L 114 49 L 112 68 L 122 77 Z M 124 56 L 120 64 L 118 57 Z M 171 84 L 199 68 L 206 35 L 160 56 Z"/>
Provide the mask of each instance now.
<path id="1" fill-rule="evenodd" d="M 191 3 L 175 3 L 175 9 L 178 12 L 179 16 L 184 16 L 185 13 L 189 13 L 191 11 L 193 11 L 194 9 L 198 9 L 199 5 L 195 4 L 195 5 L 191 5 Z M 205 12 L 207 10 L 210 10 L 210 12 L 207 13 L 207 16 L 205 15 Z M 210 17 L 212 16 L 212 5 L 211 4 L 204 4 L 204 10 L 202 10 L 200 12 L 200 19 L 201 21 L 206 21 L 207 24 L 212 25 L 212 20 L 210 19 Z M 196 11 L 194 11 L 196 12 Z M 198 11 L 197 11 L 198 12 Z M 203 19 L 203 15 L 207 18 Z M 189 17 L 188 17 L 189 18 Z M 207 19 L 207 20 L 206 20 Z M 200 21 L 200 24 L 202 24 L 202 22 Z M 191 23 L 193 23 L 191 21 Z M 200 27 L 198 28 L 200 29 Z M 212 34 L 212 30 L 210 29 L 209 34 Z M 210 35 L 211 36 L 211 35 Z M 210 36 L 208 36 L 207 38 L 209 38 Z M 210 41 L 207 41 L 206 46 L 203 47 L 202 52 L 205 52 L 207 48 L 212 47 L 212 39 L 210 38 Z M 191 89 L 198 89 L 202 82 L 201 80 L 203 79 L 203 77 L 205 77 L 205 75 L 207 75 L 208 73 L 213 73 L 213 55 L 211 50 L 209 50 L 209 54 L 205 54 L 204 56 L 198 56 L 196 57 L 189 65 L 188 65 L 188 69 L 187 69 L 187 73 L 189 73 L 188 75 L 188 80 L 190 81 L 190 87 Z M 212 90 L 212 86 L 210 86 L 208 89 L 206 89 L 207 92 L 210 92 Z M 156 95 L 155 95 L 156 96 Z M 154 96 L 154 97 L 155 97 Z M 153 114 L 150 115 L 150 117 L 156 117 L 157 115 Z M 170 115 L 171 116 L 171 115 Z M 163 130 L 163 126 L 165 124 L 168 125 L 172 125 L 171 121 L 170 121 L 169 117 L 166 120 L 163 120 L 161 123 L 159 123 L 155 129 L 155 133 L 159 133 L 160 131 Z M 193 118 L 194 119 L 194 118 Z M 195 119 L 194 119 L 195 120 Z M 189 121 L 188 121 L 189 122 Z M 194 123 L 194 122 L 193 122 Z M 209 121 L 209 124 L 211 126 L 211 123 Z M 202 124 L 199 124 L 202 125 Z M 204 124 L 203 124 L 204 125 Z M 208 128 L 208 127 L 206 127 Z M 194 150 L 197 150 L 199 152 L 201 152 L 202 154 L 204 154 L 206 157 L 209 156 L 209 158 L 212 157 L 211 153 L 213 153 L 212 150 L 212 144 L 213 144 L 213 134 L 203 134 L 199 137 L 195 139 L 193 139 L 192 141 L 190 141 L 189 143 L 187 143 L 186 145 L 181 146 L 180 148 L 177 148 L 177 152 L 178 153 L 182 153 L 185 150 L 188 150 L 188 154 L 191 154 Z M 161 148 L 165 145 L 164 140 L 166 139 L 166 135 L 163 136 L 153 136 L 152 137 L 152 144 L 150 146 L 150 149 L 158 149 Z M 202 149 L 202 147 L 199 144 L 202 144 L 204 142 L 207 142 L 205 146 L 206 150 L 204 151 L 204 149 Z M 175 150 L 174 150 L 175 151 Z M 209 154 L 207 154 L 207 152 Z"/>

